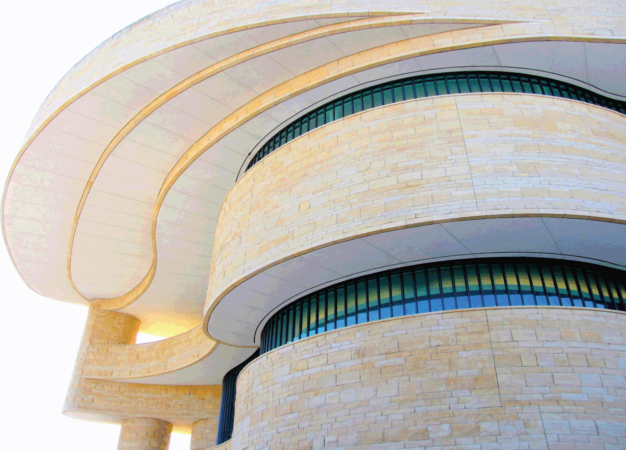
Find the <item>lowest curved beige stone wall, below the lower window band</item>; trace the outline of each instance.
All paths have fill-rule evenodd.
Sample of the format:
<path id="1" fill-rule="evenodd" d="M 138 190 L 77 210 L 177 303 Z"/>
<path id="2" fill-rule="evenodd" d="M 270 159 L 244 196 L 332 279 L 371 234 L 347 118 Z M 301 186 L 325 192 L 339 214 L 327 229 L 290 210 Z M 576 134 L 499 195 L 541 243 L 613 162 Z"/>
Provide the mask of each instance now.
<path id="1" fill-rule="evenodd" d="M 625 338 L 625 313 L 562 307 L 322 333 L 242 371 L 230 448 L 623 448 Z"/>

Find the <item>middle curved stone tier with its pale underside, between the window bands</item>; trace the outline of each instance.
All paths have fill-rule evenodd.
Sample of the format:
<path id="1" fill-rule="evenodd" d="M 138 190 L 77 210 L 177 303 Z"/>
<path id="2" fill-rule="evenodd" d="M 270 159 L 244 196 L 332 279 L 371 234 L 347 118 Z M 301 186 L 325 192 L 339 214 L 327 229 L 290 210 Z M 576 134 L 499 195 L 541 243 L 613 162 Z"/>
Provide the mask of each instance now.
<path id="1" fill-rule="evenodd" d="M 626 118 L 603 108 L 496 93 L 395 103 L 305 133 L 222 206 L 208 333 L 254 345 L 289 298 L 433 258 L 624 267 L 625 133 Z"/>

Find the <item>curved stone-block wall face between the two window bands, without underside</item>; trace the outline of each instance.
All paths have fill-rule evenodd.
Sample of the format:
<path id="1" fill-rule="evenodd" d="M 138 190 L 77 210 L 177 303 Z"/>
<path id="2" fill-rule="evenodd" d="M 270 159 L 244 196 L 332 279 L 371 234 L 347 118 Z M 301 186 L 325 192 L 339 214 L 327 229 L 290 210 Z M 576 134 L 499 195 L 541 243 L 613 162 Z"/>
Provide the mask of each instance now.
<path id="1" fill-rule="evenodd" d="M 604 108 L 498 93 L 394 103 L 316 128 L 228 193 L 207 310 L 261 269 L 367 234 L 485 217 L 625 223 L 625 135 L 626 118 Z"/>

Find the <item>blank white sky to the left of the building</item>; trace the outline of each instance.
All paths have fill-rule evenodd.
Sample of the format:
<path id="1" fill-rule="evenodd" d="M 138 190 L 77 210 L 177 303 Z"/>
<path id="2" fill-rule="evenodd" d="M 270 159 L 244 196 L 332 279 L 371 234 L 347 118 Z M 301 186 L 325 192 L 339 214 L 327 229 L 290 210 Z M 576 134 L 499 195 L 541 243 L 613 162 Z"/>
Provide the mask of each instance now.
<path id="1" fill-rule="evenodd" d="M 102 41 L 172 3 L 168 0 L 3 3 L 0 179 L 6 182 L 39 105 L 57 81 Z M 2 358 L 0 414 L 6 449 L 115 450 L 119 426 L 61 414 L 87 308 L 44 298 L 24 285 L 0 249 Z M 147 337 L 144 337 L 146 339 Z M 188 450 L 172 434 L 170 450 Z"/>

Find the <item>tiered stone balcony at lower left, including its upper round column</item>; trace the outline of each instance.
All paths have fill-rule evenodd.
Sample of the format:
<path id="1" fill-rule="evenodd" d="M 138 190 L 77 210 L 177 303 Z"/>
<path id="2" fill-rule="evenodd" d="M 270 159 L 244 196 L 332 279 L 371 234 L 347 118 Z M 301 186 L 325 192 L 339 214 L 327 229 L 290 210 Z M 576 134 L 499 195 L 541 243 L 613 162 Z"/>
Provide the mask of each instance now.
<path id="1" fill-rule="evenodd" d="M 90 308 L 64 414 L 113 424 L 150 417 L 187 433 L 197 424 L 200 440 L 215 441 L 222 377 L 249 353 L 218 345 L 200 328 L 133 345 L 138 327 L 128 314 Z"/>

